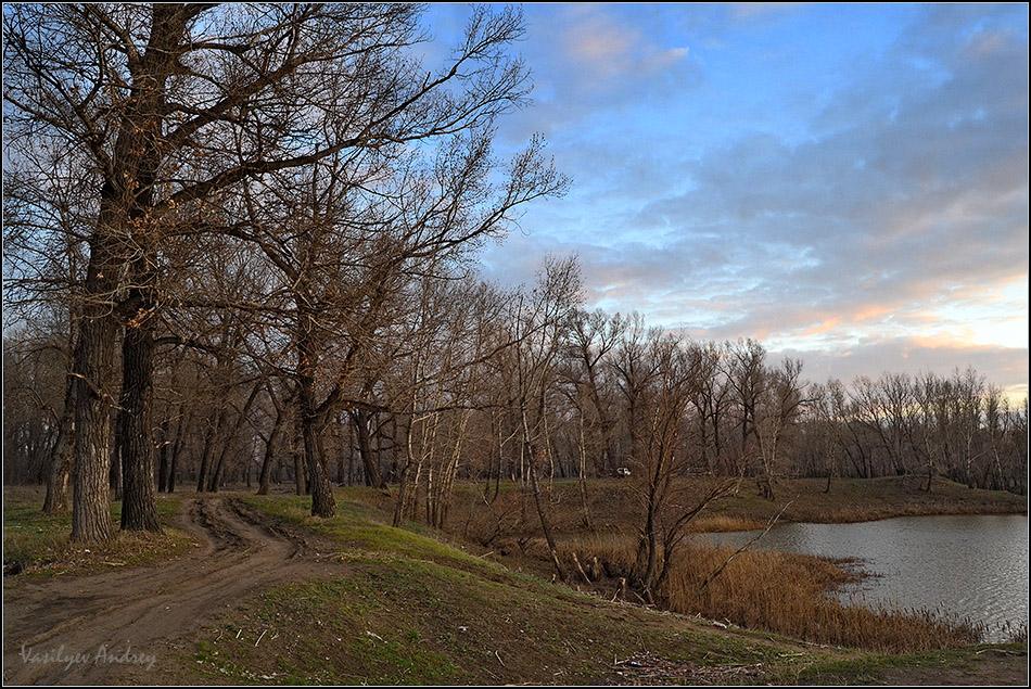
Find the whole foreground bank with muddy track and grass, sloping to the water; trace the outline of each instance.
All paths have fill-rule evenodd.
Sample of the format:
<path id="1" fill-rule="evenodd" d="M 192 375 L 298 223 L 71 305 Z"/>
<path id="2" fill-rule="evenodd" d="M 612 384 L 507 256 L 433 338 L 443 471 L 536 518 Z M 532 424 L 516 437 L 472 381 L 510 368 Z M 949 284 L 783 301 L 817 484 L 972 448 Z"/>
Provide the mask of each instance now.
<path id="1" fill-rule="evenodd" d="M 161 537 L 147 541 L 151 552 L 133 562 L 71 548 L 77 562 L 71 572 L 58 559 L 5 577 L 4 679 L 24 672 L 17 650 L 23 631 L 46 650 L 60 640 L 48 635 L 88 645 L 153 630 L 153 621 L 140 627 L 140 620 L 156 615 L 161 635 L 137 647 L 155 659 L 153 666 L 109 665 L 93 679 L 628 685 L 896 684 L 904 677 L 902 684 L 1014 684 L 1022 673 L 1027 680 L 1026 643 L 876 654 L 587 595 L 504 566 L 489 552 L 449 544 L 442 534 L 386 526 L 390 513 L 348 499 L 354 493 L 338 492 L 340 512 L 331 520 L 307 516 L 303 497 L 184 495 L 169 544 L 189 534 L 195 543 L 186 552 L 164 552 L 169 544 Z M 5 492 L 5 511 L 13 503 Z M 9 531 L 20 531 L 11 528 L 15 524 L 44 528 L 25 510 L 5 519 L 5 541 Z M 133 552 L 147 544 L 135 544 Z M 47 624 L 36 631 L 17 624 L 34 620 Z M 112 624 L 124 628 L 109 629 Z M 87 672 L 97 667 L 73 668 L 86 674 L 72 680 L 97 684 Z M 47 676 L 63 681 L 60 672 Z"/>

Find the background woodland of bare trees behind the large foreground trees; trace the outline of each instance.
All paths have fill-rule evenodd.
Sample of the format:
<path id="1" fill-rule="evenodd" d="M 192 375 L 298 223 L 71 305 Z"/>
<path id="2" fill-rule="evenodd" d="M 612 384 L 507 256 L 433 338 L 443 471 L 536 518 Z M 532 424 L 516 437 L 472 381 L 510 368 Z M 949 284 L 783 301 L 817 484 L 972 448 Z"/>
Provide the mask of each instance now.
<path id="1" fill-rule="evenodd" d="M 798 476 L 1027 489 L 1027 400 L 1011 406 L 973 369 L 809 384 L 799 361 L 772 363 L 752 340 L 699 343 L 583 310 L 571 259 L 522 290 L 466 277 L 412 280 L 402 296 L 404 315 L 354 365 L 360 404 L 348 399 L 320 430 L 331 481 L 396 486 L 398 519 L 440 526 L 456 479 L 498 490 L 534 471 L 743 475 L 772 482 L 771 497 L 778 479 Z M 303 493 L 295 384 L 265 361 L 276 357 L 265 327 L 219 319 L 193 346 L 164 339 L 155 481 L 267 492 L 300 475 Z M 66 404 L 66 321 L 35 327 L 5 342 L 9 482 L 47 481 Z"/>

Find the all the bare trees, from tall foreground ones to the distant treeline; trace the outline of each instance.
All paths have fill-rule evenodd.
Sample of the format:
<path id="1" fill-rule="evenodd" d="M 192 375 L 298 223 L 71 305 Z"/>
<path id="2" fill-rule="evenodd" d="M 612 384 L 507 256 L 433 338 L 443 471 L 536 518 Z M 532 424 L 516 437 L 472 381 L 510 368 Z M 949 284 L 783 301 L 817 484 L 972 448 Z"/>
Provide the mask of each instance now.
<path id="1" fill-rule="evenodd" d="M 4 481 L 71 493 L 73 538 L 111 536 L 112 498 L 157 528 L 155 490 L 285 483 L 328 516 L 365 483 L 441 526 L 457 480 L 517 481 L 561 571 L 547 482 L 628 475 L 650 591 L 729 489 L 685 502 L 684 475 L 1027 490 L 1027 400 L 972 370 L 810 385 L 751 340 L 584 310 L 572 258 L 478 279 L 568 180 L 537 139 L 492 150 L 529 92 L 519 12 L 473 10 L 429 69 L 419 13 L 4 9 Z"/>

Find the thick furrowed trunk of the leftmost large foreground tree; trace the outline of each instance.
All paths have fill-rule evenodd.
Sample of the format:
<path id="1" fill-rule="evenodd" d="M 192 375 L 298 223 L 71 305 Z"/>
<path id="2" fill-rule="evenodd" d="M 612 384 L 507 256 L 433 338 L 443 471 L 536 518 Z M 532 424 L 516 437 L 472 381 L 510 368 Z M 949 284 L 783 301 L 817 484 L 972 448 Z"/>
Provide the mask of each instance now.
<path id="1" fill-rule="evenodd" d="M 111 515 L 107 510 L 106 479 L 110 469 L 111 399 L 107 397 L 106 377 L 111 373 L 122 309 L 117 304 L 119 277 L 131 254 L 140 265 L 153 259 L 156 248 L 154 238 L 149 235 L 153 227 L 145 219 L 150 207 L 154 174 L 163 152 L 158 149 L 162 138 L 165 82 L 179 68 L 178 59 L 186 31 L 188 13 L 184 5 L 154 4 L 151 31 L 147 50 L 136 64 L 130 64 L 133 97 L 111 157 L 110 177 L 100 192 L 100 215 L 97 229 L 90 238 L 90 259 L 82 295 L 82 321 L 79 341 L 73 357 L 73 372 L 78 378 L 75 416 L 75 496 L 72 509 L 72 540 L 109 540 L 112 535 Z M 137 278 L 139 276 L 136 276 Z M 145 352 L 152 352 L 152 343 L 137 342 Z M 145 354 L 143 355 L 145 356 Z M 139 363 L 130 362 L 133 368 Z M 147 359 L 145 367 L 151 366 Z M 131 394 L 143 399 L 150 394 L 151 371 L 136 372 L 142 378 L 143 387 Z M 133 413 L 147 413 L 147 405 L 133 409 Z M 132 419 L 128 425 L 143 429 L 149 418 Z M 143 503 L 154 497 L 148 494 L 142 480 L 138 480 L 141 467 L 137 460 L 150 456 L 151 448 L 139 454 L 141 443 L 150 442 L 150 430 L 139 441 L 132 441 L 132 465 L 128 471 L 133 476 L 133 490 L 140 495 L 129 498 L 130 523 L 149 523 L 149 516 L 140 516 L 137 508 L 148 511 Z M 143 460 L 145 462 L 145 460 Z M 147 463 L 153 470 L 153 458 Z M 152 481 L 148 474 L 147 482 Z M 125 518 L 124 518 L 125 519 Z M 140 521 L 142 520 L 142 521 Z"/>

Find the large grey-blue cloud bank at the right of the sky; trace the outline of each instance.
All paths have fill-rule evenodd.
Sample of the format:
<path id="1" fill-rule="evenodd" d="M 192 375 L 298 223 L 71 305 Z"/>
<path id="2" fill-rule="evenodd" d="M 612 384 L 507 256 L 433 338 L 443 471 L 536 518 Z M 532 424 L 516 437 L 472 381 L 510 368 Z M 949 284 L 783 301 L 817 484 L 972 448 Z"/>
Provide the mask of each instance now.
<path id="1" fill-rule="evenodd" d="M 1013 72 L 1014 54 L 997 51 L 991 71 Z M 877 94 L 865 95 L 862 88 L 853 93 Z M 957 72 L 939 89 L 898 99 L 893 122 L 869 113 L 795 146 L 774 135 L 747 136 L 707 153 L 689 170 L 693 188 L 645 204 L 637 226 L 669 233 L 671 218 L 679 219 L 685 252 L 710 243 L 717 227 L 738 247 L 725 269 L 751 268 L 766 291 L 797 295 L 806 307 L 901 307 L 1026 272 L 1028 156 L 1019 102 L 994 81 Z M 957 110 L 973 110 L 968 104 L 980 116 L 950 126 Z"/>

